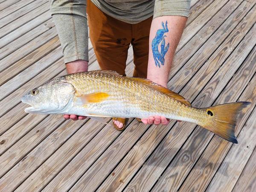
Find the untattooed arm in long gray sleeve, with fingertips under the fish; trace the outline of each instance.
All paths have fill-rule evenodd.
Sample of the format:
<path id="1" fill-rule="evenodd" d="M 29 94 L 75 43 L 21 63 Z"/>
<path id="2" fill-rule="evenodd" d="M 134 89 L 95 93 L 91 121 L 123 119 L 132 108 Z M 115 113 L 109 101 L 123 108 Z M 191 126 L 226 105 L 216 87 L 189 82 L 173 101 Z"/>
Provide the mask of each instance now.
<path id="1" fill-rule="evenodd" d="M 88 70 L 86 0 L 51 0 L 50 11 L 61 41 L 67 73 Z M 65 119 L 85 119 L 64 115 Z"/>

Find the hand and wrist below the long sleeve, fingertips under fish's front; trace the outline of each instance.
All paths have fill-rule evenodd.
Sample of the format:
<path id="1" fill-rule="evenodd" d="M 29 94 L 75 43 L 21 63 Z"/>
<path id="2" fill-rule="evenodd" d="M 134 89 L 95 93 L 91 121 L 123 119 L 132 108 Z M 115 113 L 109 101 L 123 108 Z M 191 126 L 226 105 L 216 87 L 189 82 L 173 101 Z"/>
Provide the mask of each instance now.
<path id="1" fill-rule="evenodd" d="M 87 72 L 88 71 L 88 61 L 77 60 L 72 61 L 66 64 L 67 73 L 77 73 L 77 72 Z M 65 119 L 73 119 L 74 121 L 78 119 L 85 119 L 86 116 L 77 116 L 77 115 L 64 115 Z"/>

